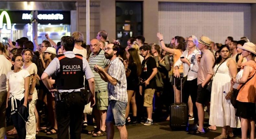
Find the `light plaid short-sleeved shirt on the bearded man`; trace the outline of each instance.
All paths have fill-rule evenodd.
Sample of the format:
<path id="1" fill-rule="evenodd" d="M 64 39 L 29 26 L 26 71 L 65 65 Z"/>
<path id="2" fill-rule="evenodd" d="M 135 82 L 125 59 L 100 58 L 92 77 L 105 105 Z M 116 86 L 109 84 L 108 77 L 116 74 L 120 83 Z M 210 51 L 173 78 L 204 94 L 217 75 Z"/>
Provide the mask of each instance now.
<path id="1" fill-rule="evenodd" d="M 118 57 L 110 61 L 108 74 L 117 80 L 116 86 L 108 82 L 109 100 L 128 102 L 125 68 Z"/>

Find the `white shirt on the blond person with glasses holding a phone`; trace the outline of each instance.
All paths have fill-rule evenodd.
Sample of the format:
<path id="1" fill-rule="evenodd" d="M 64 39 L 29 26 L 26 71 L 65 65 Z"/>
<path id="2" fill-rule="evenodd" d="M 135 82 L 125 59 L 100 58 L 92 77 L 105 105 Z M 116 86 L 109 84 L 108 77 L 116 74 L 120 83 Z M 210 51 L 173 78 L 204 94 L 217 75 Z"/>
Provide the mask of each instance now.
<path id="1" fill-rule="evenodd" d="M 185 50 L 181 54 L 180 57 L 184 57 L 184 58 L 188 59 L 189 62 L 191 63 L 190 67 L 187 63 L 181 62 L 180 58 L 174 64 L 174 67 L 175 66 L 180 67 L 181 64 L 183 64 L 183 74 L 184 74 L 184 77 L 188 76 L 187 80 L 194 80 L 197 78 L 197 71 L 198 71 L 198 67 L 199 67 L 197 60 L 195 59 L 193 62 L 191 61 L 192 56 L 196 57 L 197 55 L 200 55 L 200 52 L 197 49 L 195 49 L 190 55 L 188 55 L 188 50 Z M 190 68 L 190 70 L 189 70 L 189 68 Z"/>

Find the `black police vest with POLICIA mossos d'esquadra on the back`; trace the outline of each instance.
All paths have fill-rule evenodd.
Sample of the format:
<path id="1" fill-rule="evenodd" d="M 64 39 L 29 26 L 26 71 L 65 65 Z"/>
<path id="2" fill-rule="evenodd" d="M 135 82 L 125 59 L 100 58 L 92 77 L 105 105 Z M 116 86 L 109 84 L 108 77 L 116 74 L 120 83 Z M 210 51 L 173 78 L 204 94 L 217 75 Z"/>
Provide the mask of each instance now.
<path id="1" fill-rule="evenodd" d="M 58 55 L 60 72 L 57 73 L 56 86 L 59 90 L 71 90 L 84 87 L 83 56 L 76 54 L 74 58 Z"/>

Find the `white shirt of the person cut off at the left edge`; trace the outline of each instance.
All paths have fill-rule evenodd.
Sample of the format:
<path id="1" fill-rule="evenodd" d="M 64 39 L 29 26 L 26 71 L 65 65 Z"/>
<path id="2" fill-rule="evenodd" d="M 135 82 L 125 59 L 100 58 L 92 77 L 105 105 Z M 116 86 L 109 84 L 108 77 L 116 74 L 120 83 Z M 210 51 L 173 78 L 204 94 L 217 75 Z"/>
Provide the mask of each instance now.
<path id="1" fill-rule="evenodd" d="M 7 91 L 6 74 L 11 71 L 12 63 L 4 55 L 0 55 L 0 92 Z"/>

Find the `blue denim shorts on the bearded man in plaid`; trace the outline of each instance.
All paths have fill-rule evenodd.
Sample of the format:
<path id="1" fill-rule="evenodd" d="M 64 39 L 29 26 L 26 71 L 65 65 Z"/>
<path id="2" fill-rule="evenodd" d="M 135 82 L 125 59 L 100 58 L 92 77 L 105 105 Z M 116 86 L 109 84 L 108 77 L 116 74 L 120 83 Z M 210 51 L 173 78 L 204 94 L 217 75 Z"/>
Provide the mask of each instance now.
<path id="1" fill-rule="evenodd" d="M 111 100 L 107 110 L 106 122 L 115 122 L 116 126 L 125 124 L 125 110 L 127 102 Z"/>

